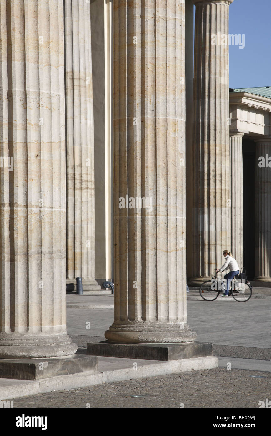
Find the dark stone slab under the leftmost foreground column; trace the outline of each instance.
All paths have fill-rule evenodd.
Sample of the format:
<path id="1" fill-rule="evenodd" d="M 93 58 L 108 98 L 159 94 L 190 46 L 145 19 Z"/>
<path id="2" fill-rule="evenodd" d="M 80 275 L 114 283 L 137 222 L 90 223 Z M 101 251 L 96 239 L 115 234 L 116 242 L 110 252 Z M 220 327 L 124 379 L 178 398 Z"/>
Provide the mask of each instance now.
<path id="1" fill-rule="evenodd" d="M 1 359 L 0 377 L 19 380 L 39 380 L 59 375 L 96 371 L 98 358 L 84 354 L 43 359 Z"/>

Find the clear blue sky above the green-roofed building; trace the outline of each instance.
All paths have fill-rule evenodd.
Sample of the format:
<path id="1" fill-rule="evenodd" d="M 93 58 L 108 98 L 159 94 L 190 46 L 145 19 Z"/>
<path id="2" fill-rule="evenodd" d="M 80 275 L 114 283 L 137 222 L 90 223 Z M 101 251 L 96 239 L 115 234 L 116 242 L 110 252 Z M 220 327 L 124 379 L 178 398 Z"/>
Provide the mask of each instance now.
<path id="1" fill-rule="evenodd" d="M 230 87 L 271 86 L 271 0 L 234 0 L 230 34 L 244 34 L 245 46 L 230 46 Z"/>

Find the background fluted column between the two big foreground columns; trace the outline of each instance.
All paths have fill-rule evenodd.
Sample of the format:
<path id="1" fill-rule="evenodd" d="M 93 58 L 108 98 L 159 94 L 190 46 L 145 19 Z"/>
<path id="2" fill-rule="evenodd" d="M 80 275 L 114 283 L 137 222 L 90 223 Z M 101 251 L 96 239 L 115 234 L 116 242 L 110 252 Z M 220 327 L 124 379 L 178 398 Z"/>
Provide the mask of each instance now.
<path id="1" fill-rule="evenodd" d="M 65 0 L 67 282 L 95 281 L 94 125 L 90 2 Z"/>

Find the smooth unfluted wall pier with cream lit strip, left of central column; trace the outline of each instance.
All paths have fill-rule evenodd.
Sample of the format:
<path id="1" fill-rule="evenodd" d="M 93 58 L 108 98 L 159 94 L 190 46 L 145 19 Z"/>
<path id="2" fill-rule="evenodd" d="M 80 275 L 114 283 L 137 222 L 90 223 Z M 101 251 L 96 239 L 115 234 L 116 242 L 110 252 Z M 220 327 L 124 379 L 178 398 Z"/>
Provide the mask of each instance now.
<path id="1" fill-rule="evenodd" d="M 111 177 L 111 11 L 111 0 L 90 2 L 95 144 L 95 279 L 99 284 L 104 283 L 104 281 L 114 281 Z"/>

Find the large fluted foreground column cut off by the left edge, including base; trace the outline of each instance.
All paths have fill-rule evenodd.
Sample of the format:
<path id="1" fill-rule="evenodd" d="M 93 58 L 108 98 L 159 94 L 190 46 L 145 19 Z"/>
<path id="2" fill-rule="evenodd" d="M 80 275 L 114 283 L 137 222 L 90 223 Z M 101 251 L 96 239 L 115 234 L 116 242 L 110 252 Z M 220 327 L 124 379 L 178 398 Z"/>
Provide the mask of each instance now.
<path id="1" fill-rule="evenodd" d="M 63 6 L 0 0 L 0 15 L 0 358 L 65 356 Z"/>

